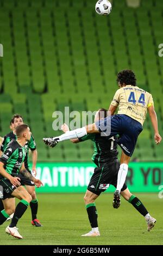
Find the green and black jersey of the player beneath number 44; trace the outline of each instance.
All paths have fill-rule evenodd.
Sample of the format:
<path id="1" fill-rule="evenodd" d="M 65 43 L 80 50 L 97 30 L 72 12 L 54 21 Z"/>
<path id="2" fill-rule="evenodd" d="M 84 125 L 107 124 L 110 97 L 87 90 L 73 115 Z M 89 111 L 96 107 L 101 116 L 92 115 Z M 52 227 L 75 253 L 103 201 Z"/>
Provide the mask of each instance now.
<path id="1" fill-rule="evenodd" d="M 91 133 L 79 138 L 79 141 L 87 141 L 91 139 L 94 144 L 94 154 L 92 161 L 98 166 L 102 166 L 104 163 L 113 162 L 117 160 L 118 150 L 117 143 L 114 137 L 107 138 L 97 133 Z"/>

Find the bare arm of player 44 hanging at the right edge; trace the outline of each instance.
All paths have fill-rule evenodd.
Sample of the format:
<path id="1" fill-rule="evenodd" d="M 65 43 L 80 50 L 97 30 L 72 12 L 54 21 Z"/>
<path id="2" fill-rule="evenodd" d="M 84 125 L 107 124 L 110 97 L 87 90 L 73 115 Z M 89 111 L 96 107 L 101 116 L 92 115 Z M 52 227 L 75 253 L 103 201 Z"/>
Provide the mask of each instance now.
<path id="1" fill-rule="evenodd" d="M 157 119 L 157 115 L 155 113 L 154 110 L 154 106 L 151 105 L 148 107 L 148 112 L 149 112 L 149 116 L 151 118 L 152 121 L 152 125 L 153 125 L 153 129 L 154 129 L 154 140 L 156 144 L 159 144 L 162 140 L 161 136 L 159 135 L 159 130 L 158 130 L 158 119 Z"/>

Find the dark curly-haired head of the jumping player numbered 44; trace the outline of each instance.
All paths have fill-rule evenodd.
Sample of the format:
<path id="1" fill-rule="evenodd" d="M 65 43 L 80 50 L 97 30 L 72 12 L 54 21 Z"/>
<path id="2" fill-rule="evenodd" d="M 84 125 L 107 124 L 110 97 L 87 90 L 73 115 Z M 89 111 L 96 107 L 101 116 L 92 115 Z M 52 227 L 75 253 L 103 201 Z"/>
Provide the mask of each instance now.
<path id="1" fill-rule="evenodd" d="M 132 70 L 122 70 L 117 75 L 118 86 L 136 86 L 136 76 Z"/>

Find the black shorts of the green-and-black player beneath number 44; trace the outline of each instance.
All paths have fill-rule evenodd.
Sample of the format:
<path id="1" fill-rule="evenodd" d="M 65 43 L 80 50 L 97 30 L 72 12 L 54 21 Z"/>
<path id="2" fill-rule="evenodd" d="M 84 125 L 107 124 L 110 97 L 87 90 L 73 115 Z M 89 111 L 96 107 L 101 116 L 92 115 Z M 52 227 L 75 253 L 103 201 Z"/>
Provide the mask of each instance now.
<path id="1" fill-rule="evenodd" d="M 120 168 L 120 162 L 115 160 L 111 163 L 105 163 L 102 167 L 96 167 L 91 177 L 90 183 L 87 186 L 87 190 L 99 196 L 101 192 L 104 192 L 110 184 L 117 186 L 118 170 Z M 124 183 L 122 190 L 126 190 L 127 185 Z"/>

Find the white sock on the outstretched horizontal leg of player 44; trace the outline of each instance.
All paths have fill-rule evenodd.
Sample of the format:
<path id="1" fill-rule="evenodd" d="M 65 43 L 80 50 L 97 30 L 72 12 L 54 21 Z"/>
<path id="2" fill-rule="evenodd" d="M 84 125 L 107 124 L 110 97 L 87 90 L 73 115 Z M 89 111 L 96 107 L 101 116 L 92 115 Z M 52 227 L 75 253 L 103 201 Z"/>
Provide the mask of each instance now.
<path id="1" fill-rule="evenodd" d="M 66 141 L 67 139 L 77 139 L 87 135 L 86 128 L 82 127 L 76 130 L 67 131 L 66 133 L 59 136 L 59 141 Z"/>

